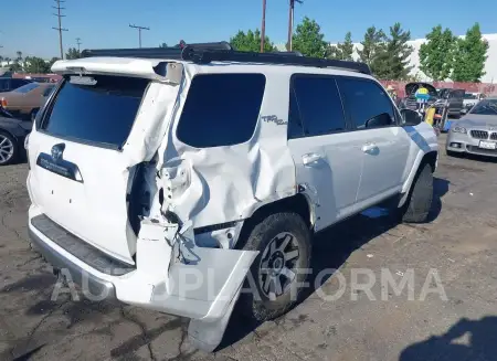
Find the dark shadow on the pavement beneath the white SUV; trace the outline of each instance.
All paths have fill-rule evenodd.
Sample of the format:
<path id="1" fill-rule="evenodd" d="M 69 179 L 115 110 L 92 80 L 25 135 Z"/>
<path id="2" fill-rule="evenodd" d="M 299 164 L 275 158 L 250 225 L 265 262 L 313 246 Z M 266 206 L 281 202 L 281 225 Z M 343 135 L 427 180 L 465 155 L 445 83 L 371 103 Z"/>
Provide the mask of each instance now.
<path id="1" fill-rule="evenodd" d="M 437 177 L 433 179 L 433 203 L 427 222 L 433 222 L 441 213 L 441 198 L 448 192 L 450 185 L 447 180 Z M 393 212 L 389 214 L 388 211 L 385 212 L 381 209 L 370 209 L 368 211 L 371 212 L 363 212 L 352 216 L 316 235 L 313 244 L 313 274 L 308 277 L 310 287 L 300 293 L 299 300 L 294 307 L 305 301 L 332 276 L 332 273 L 327 273 L 325 277 L 320 275 L 320 279 L 317 282 L 317 275 L 320 272 L 339 269 L 353 251 L 399 224 L 399 217 Z M 370 214 L 370 216 L 364 216 L 363 214 Z M 262 322 L 242 316 L 240 307 L 241 305 L 235 306 L 223 341 L 218 350 L 243 339 L 262 325 Z"/>

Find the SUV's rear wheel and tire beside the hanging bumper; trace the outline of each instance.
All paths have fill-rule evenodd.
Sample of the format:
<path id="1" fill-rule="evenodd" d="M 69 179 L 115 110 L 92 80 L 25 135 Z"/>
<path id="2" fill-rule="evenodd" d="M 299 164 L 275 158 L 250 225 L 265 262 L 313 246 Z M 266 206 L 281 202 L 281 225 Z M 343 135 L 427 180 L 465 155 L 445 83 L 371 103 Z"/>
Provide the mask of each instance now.
<path id="1" fill-rule="evenodd" d="M 307 278 L 306 273 L 292 269 L 310 266 L 311 234 L 308 226 L 296 213 L 272 214 L 252 229 L 243 249 L 260 251 L 260 254 L 252 264 L 245 291 L 240 297 L 242 312 L 257 321 L 284 315 L 297 301 L 302 290 L 297 285 Z"/>

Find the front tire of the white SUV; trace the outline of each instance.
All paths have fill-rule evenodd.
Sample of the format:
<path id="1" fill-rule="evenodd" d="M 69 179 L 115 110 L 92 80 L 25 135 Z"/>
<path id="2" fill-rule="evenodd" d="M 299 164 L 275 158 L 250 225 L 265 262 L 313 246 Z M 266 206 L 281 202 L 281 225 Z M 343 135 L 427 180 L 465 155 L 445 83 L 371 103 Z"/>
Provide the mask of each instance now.
<path id="1" fill-rule="evenodd" d="M 429 163 L 420 168 L 411 191 L 402 208 L 402 222 L 424 223 L 429 217 L 433 201 L 433 171 Z"/>

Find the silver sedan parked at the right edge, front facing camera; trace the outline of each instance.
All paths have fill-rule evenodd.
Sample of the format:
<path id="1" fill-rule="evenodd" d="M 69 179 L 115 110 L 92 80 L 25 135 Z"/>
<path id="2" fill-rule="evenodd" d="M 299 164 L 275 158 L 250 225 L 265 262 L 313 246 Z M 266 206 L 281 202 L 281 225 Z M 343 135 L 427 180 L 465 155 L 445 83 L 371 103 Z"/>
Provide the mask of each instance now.
<path id="1" fill-rule="evenodd" d="M 497 157 L 497 97 L 480 100 L 452 123 L 446 150 L 450 156 L 467 152 Z"/>

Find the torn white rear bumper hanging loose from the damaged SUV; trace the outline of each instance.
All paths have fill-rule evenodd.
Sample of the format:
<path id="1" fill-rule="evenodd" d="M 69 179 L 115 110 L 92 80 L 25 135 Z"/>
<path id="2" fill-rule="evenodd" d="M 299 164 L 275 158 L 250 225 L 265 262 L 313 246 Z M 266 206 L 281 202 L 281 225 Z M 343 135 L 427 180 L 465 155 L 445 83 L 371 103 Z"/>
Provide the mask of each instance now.
<path id="1" fill-rule="evenodd" d="M 59 227 L 57 233 L 46 232 L 46 229 L 38 223 L 40 217 L 46 216 L 36 205 L 31 205 L 31 241 L 49 263 L 81 286 L 86 298 L 97 301 L 117 299 L 192 319 L 221 319 L 237 295 L 257 254 L 248 251 L 195 247 L 192 252 L 198 261 L 182 264 L 173 259 L 166 242 L 144 238 L 138 240 L 136 268 L 123 268 L 118 263 L 116 266 L 116 263 L 106 262 L 105 257 L 95 255 L 92 249 L 82 251 L 76 240 L 67 241 L 67 231 L 60 229 L 53 221 L 50 222 Z M 82 240 L 80 242 L 84 243 Z"/>

